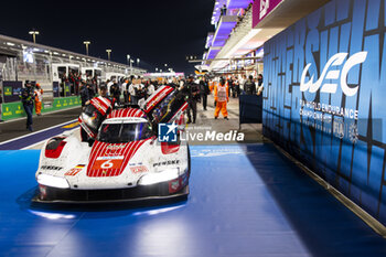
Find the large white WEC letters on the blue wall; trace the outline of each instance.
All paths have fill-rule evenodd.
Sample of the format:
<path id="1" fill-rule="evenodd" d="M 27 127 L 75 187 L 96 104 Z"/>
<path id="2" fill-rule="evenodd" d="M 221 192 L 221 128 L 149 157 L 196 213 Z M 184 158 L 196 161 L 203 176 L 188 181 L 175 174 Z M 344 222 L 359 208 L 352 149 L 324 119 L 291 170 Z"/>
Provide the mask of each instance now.
<path id="1" fill-rule="evenodd" d="M 340 83 L 342 92 L 346 96 L 354 96 L 357 93 L 358 85 L 355 87 L 350 87 L 347 85 L 347 76 L 350 71 L 355 65 L 362 64 L 366 61 L 367 52 L 355 53 L 346 62 L 344 62 L 347 56 L 349 53 L 337 53 L 333 55 L 325 64 L 323 72 L 317 82 L 313 82 L 314 75 L 311 76 L 310 81 L 305 82 L 305 76 L 309 73 L 309 68 L 311 67 L 311 63 L 307 64 L 301 75 L 300 90 L 315 93 L 319 90 L 319 88 L 321 88 L 321 93 L 335 94 L 337 89 L 337 83 Z M 335 83 L 324 83 L 322 85 L 324 79 L 332 79 Z"/>

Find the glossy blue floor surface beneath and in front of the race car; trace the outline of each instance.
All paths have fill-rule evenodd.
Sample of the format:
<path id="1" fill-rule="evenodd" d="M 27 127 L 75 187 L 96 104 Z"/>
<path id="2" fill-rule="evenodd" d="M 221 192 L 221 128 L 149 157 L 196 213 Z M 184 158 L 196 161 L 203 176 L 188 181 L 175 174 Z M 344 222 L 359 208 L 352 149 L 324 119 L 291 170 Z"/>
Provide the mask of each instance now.
<path id="1" fill-rule="evenodd" d="M 296 172 L 296 168 L 288 165 L 271 147 L 202 146 L 191 150 L 193 170 L 187 201 L 160 206 L 92 208 L 32 206 L 40 151 L 1 151 L 0 181 L 4 183 L 0 188 L 0 256 L 302 257 L 318 256 L 318 248 L 339 243 L 329 242 L 328 234 L 317 236 L 310 228 L 333 229 L 336 224 L 329 221 L 313 224 L 312 216 L 302 218 L 302 227 L 299 221 L 293 223 L 288 210 L 292 207 L 291 201 L 279 193 L 285 192 L 288 197 L 294 193 L 299 197 L 299 192 L 292 192 L 296 190 L 286 191 L 285 183 L 291 183 L 288 178 L 280 180 L 285 176 L 280 172 Z M 297 188 L 310 190 L 310 182 L 300 179 L 304 181 L 298 181 Z M 278 186 L 282 191 L 277 191 Z M 311 189 L 320 191 L 318 199 L 328 200 L 331 213 L 352 217 L 315 186 Z M 287 205 L 281 203 L 283 200 Z M 303 207 L 309 197 L 307 201 Z M 355 237 L 374 239 L 372 256 L 384 253 L 374 233 L 356 218 L 351 222 Z M 310 239 L 318 238 L 313 245 L 303 237 L 307 231 Z M 366 245 L 360 243 L 345 242 L 347 246 L 343 248 L 363 249 Z M 334 256 L 334 251 L 329 254 Z M 340 251 L 335 256 L 344 254 Z"/>

